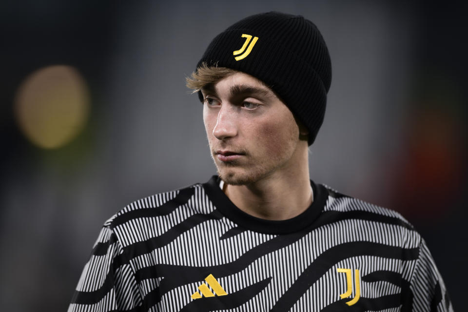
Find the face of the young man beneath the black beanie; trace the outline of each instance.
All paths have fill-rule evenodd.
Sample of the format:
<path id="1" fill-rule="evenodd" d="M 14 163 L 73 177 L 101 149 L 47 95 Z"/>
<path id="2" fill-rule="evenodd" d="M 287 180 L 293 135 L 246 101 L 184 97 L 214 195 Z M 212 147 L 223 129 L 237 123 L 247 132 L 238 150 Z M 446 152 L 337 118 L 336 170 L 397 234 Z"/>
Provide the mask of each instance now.
<path id="1" fill-rule="evenodd" d="M 270 88 L 237 72 L 202 93 L 205 130 L 223 181 L 243 185 L 291 173 L 299 127 Z"/>

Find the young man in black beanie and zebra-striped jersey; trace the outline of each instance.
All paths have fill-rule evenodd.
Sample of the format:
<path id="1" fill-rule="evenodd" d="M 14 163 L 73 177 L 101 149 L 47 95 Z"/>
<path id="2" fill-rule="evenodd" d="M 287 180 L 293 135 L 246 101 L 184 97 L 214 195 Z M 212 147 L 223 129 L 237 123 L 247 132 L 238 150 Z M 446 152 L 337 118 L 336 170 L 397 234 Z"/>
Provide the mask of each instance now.
<path id="1" fill-rule="evenodd" d="M 303 17 L 218 35 L 187 79 L 218 175 L 109 219 L 69 311 L 452 311 L 408 221 L 309 179 L 330 83 Z"/>

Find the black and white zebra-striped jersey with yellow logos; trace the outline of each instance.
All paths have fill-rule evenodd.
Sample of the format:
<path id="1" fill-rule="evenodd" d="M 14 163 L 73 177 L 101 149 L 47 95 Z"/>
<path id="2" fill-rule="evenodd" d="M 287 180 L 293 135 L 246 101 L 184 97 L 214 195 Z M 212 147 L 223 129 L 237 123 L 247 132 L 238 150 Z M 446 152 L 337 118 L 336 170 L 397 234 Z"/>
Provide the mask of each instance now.
<path id="1" fill-rule="evenodd" d="M 398 213 L 311 181 L 305 212 L 264 220 L 219 182 L 110 218 L 68 311 L 453 310 L 424 240 Z"/>

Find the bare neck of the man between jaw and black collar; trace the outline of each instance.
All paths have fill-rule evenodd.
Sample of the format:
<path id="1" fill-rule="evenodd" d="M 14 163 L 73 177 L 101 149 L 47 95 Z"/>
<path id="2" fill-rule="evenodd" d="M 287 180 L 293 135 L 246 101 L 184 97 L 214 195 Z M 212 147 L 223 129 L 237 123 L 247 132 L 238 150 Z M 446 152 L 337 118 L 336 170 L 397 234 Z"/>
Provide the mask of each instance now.
<path id="1" fill-rule="evenodd" d="M 313 201 L 307 153 L 306 145 L 282 168 L 250 184 L 225 185 L 224 192 L 240 210 L 258 218 L 286 220 L 300 215 Z"/>

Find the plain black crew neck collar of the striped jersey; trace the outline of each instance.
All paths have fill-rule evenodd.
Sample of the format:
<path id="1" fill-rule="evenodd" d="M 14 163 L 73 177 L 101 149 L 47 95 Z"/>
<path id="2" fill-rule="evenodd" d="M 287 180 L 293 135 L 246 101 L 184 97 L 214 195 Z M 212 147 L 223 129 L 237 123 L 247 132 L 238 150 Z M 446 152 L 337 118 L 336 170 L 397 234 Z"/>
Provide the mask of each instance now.
<path id="1" fill-rule="evenodd" d="M 240 227 L 265 234 L 288 234 L 299 232 L 313 223 L 322 212 L 328 192 L 323 185 L 316 185 L 311 180 L 313 202 L 303 213 L 287 220 L 267 220 L 249 215 L 234 205 L 219 187 L 219 176 L 212 176 L 203 183 L 206 194 L 221 214 Z"/>

